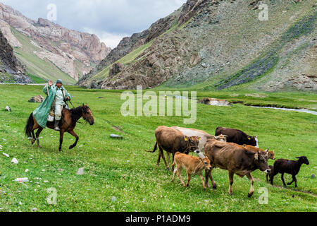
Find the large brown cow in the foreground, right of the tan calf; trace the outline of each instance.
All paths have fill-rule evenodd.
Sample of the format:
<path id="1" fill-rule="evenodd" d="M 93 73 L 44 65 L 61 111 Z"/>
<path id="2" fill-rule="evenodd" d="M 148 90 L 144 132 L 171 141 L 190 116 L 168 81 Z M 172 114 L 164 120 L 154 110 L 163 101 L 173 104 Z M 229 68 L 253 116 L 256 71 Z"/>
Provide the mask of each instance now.
<path id="1" fill-rule="evenodd" d="M 264 172 L 270 172 L 268 167 L 268 154 L 247 150 L 242 145 L 235 143 L 223 143 L 215 140 L 207 141 L 205 145 L 205 153 L 211 162 L 211 166 L 219 167 L 220 169 L 227 169 L 229 173 L 229 189 L 228 192 L 232 195 L 233 175 L 237 174 L 239 177 L 247 176 L 251 187 L 248 196 L 251 197 L 254 193 L 254 180 L 251 175 L 255 169 L 260 169 Z M 206 170 L 206 184 L 208 186 L 208 179 L 210 177 L 213 188 L 216 189 L 216 182 L 211 176 L 211 170 Z"/>

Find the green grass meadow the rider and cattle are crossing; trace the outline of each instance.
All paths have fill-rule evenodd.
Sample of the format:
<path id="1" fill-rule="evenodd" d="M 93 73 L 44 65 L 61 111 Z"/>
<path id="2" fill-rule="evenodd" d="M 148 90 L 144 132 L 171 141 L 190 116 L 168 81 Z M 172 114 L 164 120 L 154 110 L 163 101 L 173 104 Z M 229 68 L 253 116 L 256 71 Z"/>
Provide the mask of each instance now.
<path id="1" fill-rule="evenodd" d="M 311 179 L 317 169 L 315 115 L 253 109 L 244 105 L 197 105 L 197 121 L 185 125 L 182 117 L 121 116 L 120 107 L 124 100 L 120 100 L 118 90 L 66 88 L 74 96 L 75 106 L 85 102 L 91 107 L 95 124 L 78 124 L 75 129 L 80 136 L 77 147 L 68 150 L 74 138 L 66 134 L 63 152 L 59 153 L 56 131 L 44 129 L 40 137 L 43 148 L 32 146 L 23 133 L 27 117 L 38 106 L 27 100 L 42 94 L 42 87 L 0 85 L 0 106 L 9 105 L 12 109 L 12 112 L 0 110 L 0 145 L 2 151 L 10 155 L 5 157 L 0 153 L 0 211 L 30 211 L 32 208 L 48 212 L 316 211 L 316 179 Z M 199 97 L 207 94 L 212 93 L 197 93 Z M 245 97 L 246 93 L 237 94 L 239 96 L 232 98 L 294 107 L 307 107 L 311 100 L 317 100 L 316 93 L 271 93 L 268 100 Z M 219 97 L 222 95 L 229 97 L 230 93 L 219 93 Z M 294 184 L 282 188 L 279 176 L 275 178 L 275 186 L 271 186 L 266 182 L 265 174 L 256 170 L 252 173 L 255 191 L 251 198 L 247 198 L 249 181 L 237 176 L 233 195 L 229 196 L 228 172 L 221 169 L 214 170 L 217 190 L 204 191 L 198 176 L 192 178 L 189 188 L 185 188 L 178 178 L 174 183 L 170 182 L 172 174 L 166 171 L 163 163 L 156 166 L 157 152 L 144 152 L 154 147 L 154 130 L 160 125 L 190 126 L 209 133 L 214 133 L 217 126 L 239 128 L 259 136 L 260 147 L 275 150 L 277 158 L 294 160 L 294 157 L 306 155 L 310 165 L 303 165 L 297 175 L 297 189 Z M 123 140 L 112 140 L 109 138 L 111 133 L 122 135 Z M 19 160 L 18 165 L 11 163 L 13 157 Z M 273 165 L 273 160 L 268 163 Z M 85 167 L 82 176 L 75 174 L 80 167 Z M 185 177 L 185 172 L 183 175 Z M 17 177 L 28 177 L 32 182 L 13 182 Z M 290 175 L 286 175 L 285 180 L 289 182 Z M 57 189 L 57 205 L 46 203 L 49 195 L 46 189 L 51 187 Z M 261 187 L 268 189 L 267 205 L 258 202 Z M 116 201 L 111 201 L 112 196 L 116 196 Z"/>

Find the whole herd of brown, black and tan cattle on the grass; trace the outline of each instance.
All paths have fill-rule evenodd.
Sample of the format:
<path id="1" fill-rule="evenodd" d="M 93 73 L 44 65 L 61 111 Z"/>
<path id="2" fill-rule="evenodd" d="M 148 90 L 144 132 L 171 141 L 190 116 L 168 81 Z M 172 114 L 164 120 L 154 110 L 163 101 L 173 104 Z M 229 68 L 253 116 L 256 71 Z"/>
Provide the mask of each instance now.
<path id="1" fill-rule="evenodd" d="M 175 175 L 178 174 L 182 185 L 189 186 L 192 175 L 199 174 L 204 189 L 210 187 L 209 179 L 211 179 L 213 189 L 216 189 L 217 185 L 211 172 L 214 168 L 219 167 L 228 170 L 228 193 L 230 195 L 232 195 L 234 174 L 239 177 L 247 176 L 251 184 L 248 196 L 251 197 L 254 194 L 254 179 L 251 172 L 254 170 L 260 169 L 265 172 L 266 180 L 270 179 L 272 185 L 276 174 L 281 174 L 284 186 L 286 186 L 284 173 L 292 174 L 292 182 L 288 185 L 295 182 L 295 187 L 297 187 L 295 176 L 303 163 L 309 165 L 309 160 L 305 156 L 297 157 L 297 161 L 275 160 L 274 151 L 270 151 L 269 148 L 266 150 L 259 148 L 256 136 L 249 136 L 238 129 L 218 127 L 215 136 L 212 136 L 199 129 L 159 126 L 155 131 L 155 137 L 154 150 L 148 152 L 154 153 L 159 148 L 159 158 L 156 165 L 159 166 L 162 158 L 168 170 L 170 169 L 170 154 L 172 154 L 172 182 L 175 180 Z M 164 150 L 168 154 L 168 162 L 166 162 Z M 196 153 L 198 157 L 188 155 L 189 152 Z M 268 159 L 275 160 L 273 166 L 268 165 Z M 182 180 L 182 169 L 187 172 L 186 185 Z M 202 174 L 204 169 L 205 178 Z"/>

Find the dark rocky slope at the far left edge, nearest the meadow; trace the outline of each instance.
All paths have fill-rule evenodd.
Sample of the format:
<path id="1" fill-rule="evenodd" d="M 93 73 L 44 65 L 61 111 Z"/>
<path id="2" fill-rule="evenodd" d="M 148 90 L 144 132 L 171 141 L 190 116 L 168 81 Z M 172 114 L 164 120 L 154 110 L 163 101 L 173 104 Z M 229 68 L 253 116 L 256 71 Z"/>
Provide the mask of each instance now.
<path id="1" fill-rule="evenodd" d="M 0 83 L 34 83 L 25 75 L 25 66 L 16 59 L 8 40 L 0 31 Z"/>

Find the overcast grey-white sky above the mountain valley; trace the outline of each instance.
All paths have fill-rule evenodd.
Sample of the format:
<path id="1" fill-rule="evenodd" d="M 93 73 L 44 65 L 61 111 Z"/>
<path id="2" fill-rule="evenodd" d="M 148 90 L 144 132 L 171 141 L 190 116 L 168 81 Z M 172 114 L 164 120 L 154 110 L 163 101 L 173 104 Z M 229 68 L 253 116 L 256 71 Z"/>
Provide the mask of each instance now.
<path id="1" fill-rule="evenodd" d="M 0 0 L 37 20 L 47 18 L 55 4 L 56 21 L 65 28 L 96 34 L 114 48 L 123 37 L 149 28 L 159 18 L 180 8 L 186 0 Z"/>

